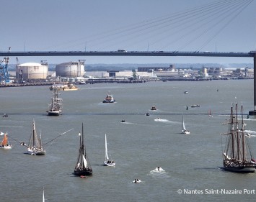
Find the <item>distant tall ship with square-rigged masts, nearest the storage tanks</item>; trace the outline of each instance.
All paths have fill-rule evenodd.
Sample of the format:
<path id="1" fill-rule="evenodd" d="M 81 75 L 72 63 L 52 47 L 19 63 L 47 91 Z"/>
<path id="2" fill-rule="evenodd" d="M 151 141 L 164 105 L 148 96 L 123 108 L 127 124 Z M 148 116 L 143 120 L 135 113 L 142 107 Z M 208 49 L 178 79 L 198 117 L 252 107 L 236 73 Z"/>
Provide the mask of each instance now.
<path id="1" fill-rule="evenodd" d="M 51 103 L 49 105 L 48 113 L 49 116 L 58 116 L 62 113 L 62 99 L 58 98 L 58 87 L 53 86 L 53 97 L 51 98 Z"/>

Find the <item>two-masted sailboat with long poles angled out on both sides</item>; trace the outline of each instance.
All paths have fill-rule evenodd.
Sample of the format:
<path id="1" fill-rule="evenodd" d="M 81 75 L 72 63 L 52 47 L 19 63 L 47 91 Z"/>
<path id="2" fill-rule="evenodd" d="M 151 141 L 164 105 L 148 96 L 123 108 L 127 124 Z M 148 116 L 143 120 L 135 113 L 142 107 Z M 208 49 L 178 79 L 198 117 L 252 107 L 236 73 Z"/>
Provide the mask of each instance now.
<path id="1" fill-rule="evenodd" d="M 43 149 L 41 135 L 37 137 L 37 132 L 35 129 L 35 120 L 33 120 L 32 134 L 30 135 L 30 142 L 26 145 L 22 142 L 22 145 L 27 147 L 26 154 L 29 155 L 45 155 L 45 150 Z"/>

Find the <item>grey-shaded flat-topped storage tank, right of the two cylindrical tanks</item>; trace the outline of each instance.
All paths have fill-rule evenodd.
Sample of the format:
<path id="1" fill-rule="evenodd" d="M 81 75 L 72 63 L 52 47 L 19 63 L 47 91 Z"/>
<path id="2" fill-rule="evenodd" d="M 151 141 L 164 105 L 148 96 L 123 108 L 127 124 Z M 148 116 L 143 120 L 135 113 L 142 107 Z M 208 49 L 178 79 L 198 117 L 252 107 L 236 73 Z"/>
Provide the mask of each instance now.
<path id="1" fill-rule="evenodd" d="M 56 76 L 77 77 L 84 75 L 84 62 L 69 62 L 56 65 Z"/>

